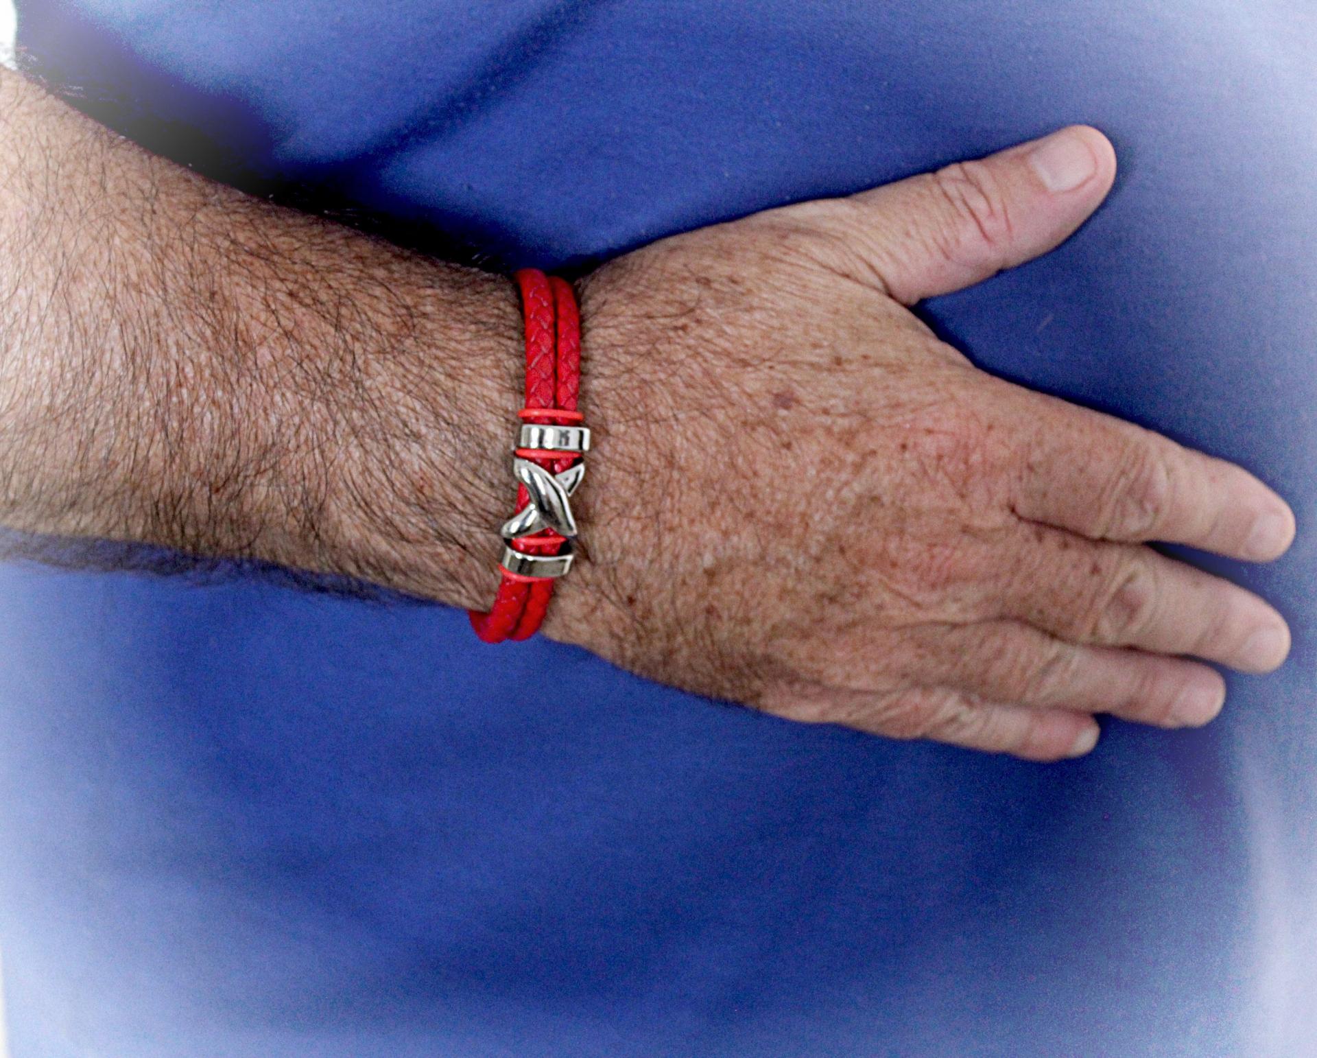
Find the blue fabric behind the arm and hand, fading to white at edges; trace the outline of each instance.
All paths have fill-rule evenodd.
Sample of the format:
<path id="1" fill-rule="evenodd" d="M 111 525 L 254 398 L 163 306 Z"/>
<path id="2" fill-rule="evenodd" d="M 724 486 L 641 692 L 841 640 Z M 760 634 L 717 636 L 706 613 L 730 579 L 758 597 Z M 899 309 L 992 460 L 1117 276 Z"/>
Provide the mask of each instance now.
<path id="1" fill-rule="evenodd" d="M 1105 722 L 1060 766 L 482 647 L 443 607 L 0 568 L 13 1058 L 1317 1054 L 1305 0 L 20 18 L 41 66 L 202 133 L 166 149 L 508 264 L 1096 124 L 1121 159 L 1097 216 L 923 315 L 993 372 L 1242 462 L 1300 538 L 1266 568 L 1192 556 L 1281 607 L 1284 669 L 1231 676 L 1208 729 Z"/>

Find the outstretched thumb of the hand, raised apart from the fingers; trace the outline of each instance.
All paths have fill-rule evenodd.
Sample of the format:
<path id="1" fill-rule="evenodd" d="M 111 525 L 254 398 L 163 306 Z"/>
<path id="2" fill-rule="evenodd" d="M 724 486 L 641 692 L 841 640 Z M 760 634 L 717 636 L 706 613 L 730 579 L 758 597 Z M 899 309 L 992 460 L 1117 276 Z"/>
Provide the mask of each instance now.
<path id="1" fill-rule="evenodd" d="M 905 304 L 972 286 L 1063 242 L 1115 179 L 1115 150 L 1088 125 L 851 195 L 853 249 Z"/>

